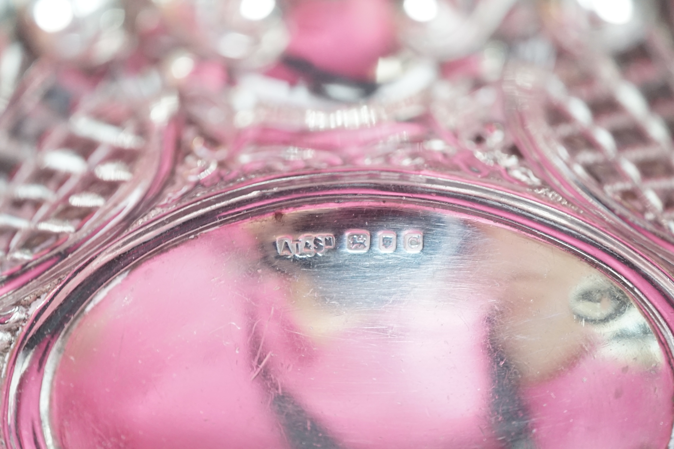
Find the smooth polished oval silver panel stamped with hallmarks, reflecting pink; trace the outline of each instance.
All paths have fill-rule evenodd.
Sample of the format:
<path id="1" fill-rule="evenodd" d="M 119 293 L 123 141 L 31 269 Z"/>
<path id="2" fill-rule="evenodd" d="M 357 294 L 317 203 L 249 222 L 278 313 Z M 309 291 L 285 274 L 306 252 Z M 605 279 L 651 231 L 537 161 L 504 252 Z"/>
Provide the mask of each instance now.
<path id="1" fill-rule="evenodd" d="M 647 273 L 478 203 L 413 197 L 221 209 L 216 226 L 195 210 L 138 234 L 31 331 L 12 415 L 45 446 L 19 444 L 667 446 L 674 376 L 635 289 Z M 334 248 L 307 256 L 317 230 Z"/>

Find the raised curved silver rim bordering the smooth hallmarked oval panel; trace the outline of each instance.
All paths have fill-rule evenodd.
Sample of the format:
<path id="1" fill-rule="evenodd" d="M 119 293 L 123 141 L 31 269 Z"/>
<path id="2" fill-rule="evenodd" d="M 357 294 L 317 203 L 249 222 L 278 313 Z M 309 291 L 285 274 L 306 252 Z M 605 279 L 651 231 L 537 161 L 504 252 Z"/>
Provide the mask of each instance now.
<path id="1" fill-rule="evenodd" d="M 632 293 L 673 368 L 674 335 L 670 328 L 674 318 L 669 318 L 674 304 L 673 280 L 640 251 L 594 224 L 516 193 L 464 180 L 373 171 L 306 174 L 216 192 L 148 221 L 74 270 L 32 315 L 9 356 L 2 391 L 5 444 L 25 449 L 53 447 L 44 440 L 40 418 L 40 393 L 49 354 L 78 312 L 122 271 L 190 235 L 279 205 L 336 199 L 353 203 L 383 197 L 489 219 L 584 258 Z M 27 378 L 37 381 L 23 382 Z"/>

